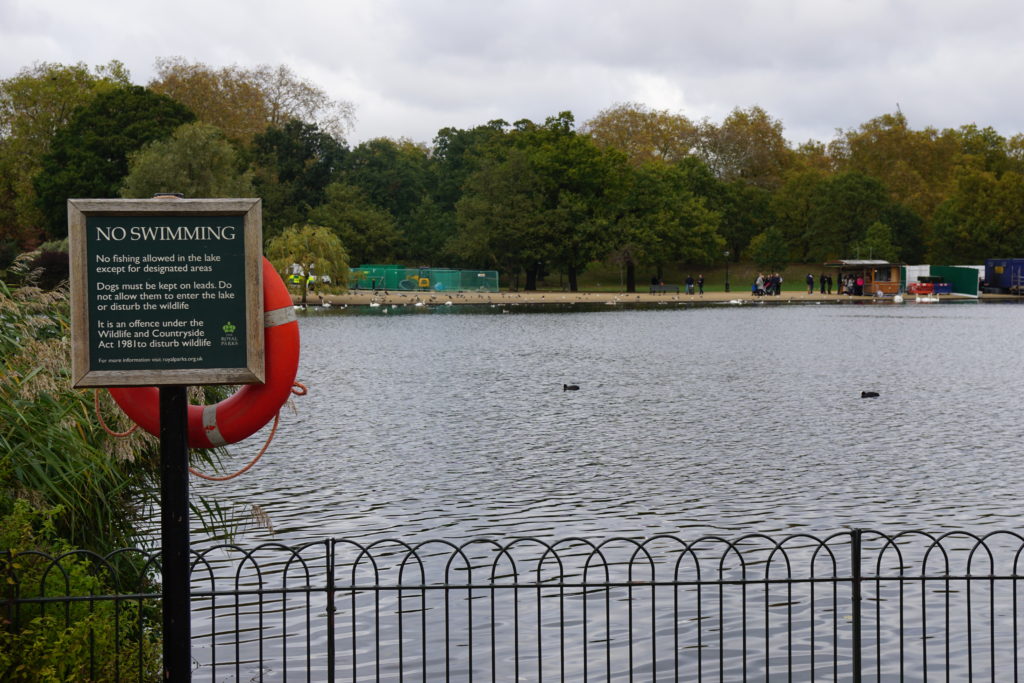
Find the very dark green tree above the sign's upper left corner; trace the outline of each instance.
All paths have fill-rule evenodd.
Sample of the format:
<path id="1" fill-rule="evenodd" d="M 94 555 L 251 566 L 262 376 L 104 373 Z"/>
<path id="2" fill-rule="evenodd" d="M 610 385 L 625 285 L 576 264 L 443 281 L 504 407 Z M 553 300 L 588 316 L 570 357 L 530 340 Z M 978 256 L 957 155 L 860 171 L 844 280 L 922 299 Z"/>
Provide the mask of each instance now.
<path id="1" fill-rule="evenodd" d="M 184 105 L 139 86 L 97 94 L 57 131 L 35 178 L 46 234 L 68 233 L 69 198 L 118 197 L 128 156 L 195 118 Z"/>

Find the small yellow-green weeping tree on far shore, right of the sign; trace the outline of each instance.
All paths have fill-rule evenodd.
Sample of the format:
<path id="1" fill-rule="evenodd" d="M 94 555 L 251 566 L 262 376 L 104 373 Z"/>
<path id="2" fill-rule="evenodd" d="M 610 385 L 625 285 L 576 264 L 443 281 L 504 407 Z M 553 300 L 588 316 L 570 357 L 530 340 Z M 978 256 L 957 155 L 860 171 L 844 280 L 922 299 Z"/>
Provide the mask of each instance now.
<path id="1" fill-rule="evenodd" d="M 341 240 L 323 225 L 291 225 L 267 243 L 264 254 L 282 274 L 298 265 L 302 274 L 302 303 L 309 278 L 327 275 L 339 287 L 347 287 L 348 254 Z"/>

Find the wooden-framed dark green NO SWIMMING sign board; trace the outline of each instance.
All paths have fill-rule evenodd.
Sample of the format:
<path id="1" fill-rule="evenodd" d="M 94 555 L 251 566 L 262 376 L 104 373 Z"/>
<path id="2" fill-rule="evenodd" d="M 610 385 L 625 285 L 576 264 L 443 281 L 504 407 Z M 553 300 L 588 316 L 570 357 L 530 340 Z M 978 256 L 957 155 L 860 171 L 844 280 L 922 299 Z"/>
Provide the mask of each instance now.
<path id="1" fill-rule="evenodd" d="M 263 382 L 260 211 L 68 200 L 74 386 Z"/>

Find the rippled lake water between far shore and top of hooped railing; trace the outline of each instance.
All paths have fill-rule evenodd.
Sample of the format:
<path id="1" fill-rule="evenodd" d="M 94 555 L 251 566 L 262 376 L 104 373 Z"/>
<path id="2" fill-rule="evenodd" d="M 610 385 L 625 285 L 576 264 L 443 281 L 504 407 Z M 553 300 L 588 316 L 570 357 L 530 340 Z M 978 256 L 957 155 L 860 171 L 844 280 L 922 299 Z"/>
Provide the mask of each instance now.
<path id="1" fill-rule="evenodd" d="M 195 489 L 247 543 L 1018 527 L 1019 306 L 605 308 L 303 314 L 308 395 Z"/>

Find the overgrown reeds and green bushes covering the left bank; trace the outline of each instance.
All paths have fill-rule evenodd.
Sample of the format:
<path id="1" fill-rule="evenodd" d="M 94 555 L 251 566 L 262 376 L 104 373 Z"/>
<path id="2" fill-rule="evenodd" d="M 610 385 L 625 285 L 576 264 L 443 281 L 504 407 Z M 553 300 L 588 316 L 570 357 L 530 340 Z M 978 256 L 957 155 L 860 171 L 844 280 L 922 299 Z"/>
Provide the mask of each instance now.
<path id="1" fill-rule="evenodd" d="M 106 556 L 153 545 L 159 443 L 141 430 L 110 434 L 93 392 L 72 387 L 67 286 L 35 287 L 27 265 L 34 257 L 8 269 L 19 285 L 0 280 L 0 599 L 9 606 L 15 597 L 116 592 L 120 581 L 110 570 L 134 575 L 134 590 L 148 592 L 153 566 L 140 555 L 116 553 L 100 566 L 79 549 Z M 196 393 L 206 400 L 224 394 L 219 387 Z M 103 422 L 126 431 L 128 419 L 105 391 L 99 395 Z M 209 469 L 223 455 L 191 458 Z M 203 511 L 217 507 L 199 499 L 193 510 L 203 521 Z M 28 618 L 0 611 L 0 680 L 159 678 L 159 610 L 41 604 Z"/>

